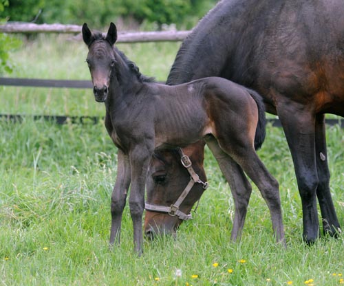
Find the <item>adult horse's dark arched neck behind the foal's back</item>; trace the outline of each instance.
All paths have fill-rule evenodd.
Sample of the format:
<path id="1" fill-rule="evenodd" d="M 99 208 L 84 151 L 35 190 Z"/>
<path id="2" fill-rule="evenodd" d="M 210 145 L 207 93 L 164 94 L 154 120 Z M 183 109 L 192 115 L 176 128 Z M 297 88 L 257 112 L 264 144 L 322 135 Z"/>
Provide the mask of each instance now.
<path id="1" fill-rule="evenodd" d="M 236 72 L 232 58 L 248 25 L 240 15 L 247 14 L 246 7 L 255 2 L 257 0 L 219 2 L 184 40 L 166 83 L 177 85 L 208 76 L 230 79 Z"/>

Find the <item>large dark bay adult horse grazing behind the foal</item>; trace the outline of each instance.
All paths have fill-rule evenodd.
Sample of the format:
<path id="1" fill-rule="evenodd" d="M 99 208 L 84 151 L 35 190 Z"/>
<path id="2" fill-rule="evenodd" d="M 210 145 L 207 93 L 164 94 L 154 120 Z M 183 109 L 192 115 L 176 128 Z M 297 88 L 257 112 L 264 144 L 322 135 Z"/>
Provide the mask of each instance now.
<path id="1" fill-rule="evenodd" d="M 316 197 L 324 232 L 336 234 L 340 225 L 330 194 L 324 114 L 344 115 L 343 1 L 220 1 L 182 43 L 167 84 L 206 76 L 228 78 L 264 97 L 266 110 L 281 120 L 292 154 L 303 239 L 312 243 L 319 236 Z M 202 148 L 190 146 L 188 152 L 204 174 L 202 158 L 197 159 Z M 166 152 L 152 161 L 148 188 L 148 200 L 162 205 L 178 197 L 189 177 L 178 156 Z M 174 174 L 178 181 L 171 179 Z M 180 208 L 189 212 L 202 192 L 194 186 Z M 173 232 L 180 223 L 148 210 L 145 230 Z"/>

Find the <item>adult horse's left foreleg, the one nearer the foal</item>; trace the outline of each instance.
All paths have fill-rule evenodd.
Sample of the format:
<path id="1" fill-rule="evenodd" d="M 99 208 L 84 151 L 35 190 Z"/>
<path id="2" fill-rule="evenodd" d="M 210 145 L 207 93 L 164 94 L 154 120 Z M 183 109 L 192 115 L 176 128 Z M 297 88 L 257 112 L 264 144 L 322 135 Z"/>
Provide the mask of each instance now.
<path id="1" fill-rule="evenodd" d="M 319 237 L 316 188 L 319 178 L 315 159 L 315 118 L 308 111 L 298 110 L 292 102 L 277 110 L 294 162 L 303 212 L 303 239 L 313 243 Z"/>

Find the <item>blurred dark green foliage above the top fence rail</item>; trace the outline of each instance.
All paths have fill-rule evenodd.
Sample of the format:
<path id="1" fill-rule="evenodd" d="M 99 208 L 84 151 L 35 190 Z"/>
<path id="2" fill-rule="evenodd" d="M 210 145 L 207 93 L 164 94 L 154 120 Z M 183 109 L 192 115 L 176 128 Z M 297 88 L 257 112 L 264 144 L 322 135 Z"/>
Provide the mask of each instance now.
<path id="1" fill-rule="evenodd" d="M 7 0 L 6 0 L 7 1 Z M 10 21 L 80 24 L 87 22 L 101 28 L 118 17 L 162 24 L 193 25 L 215 5 L 216 0 L 10 0 Z M 41 14 L 40 14 L 41 13 Z M 0 17 L 3 12 L 0 9 Z M 189 27 L 191 28 L 191 27 Z"/>

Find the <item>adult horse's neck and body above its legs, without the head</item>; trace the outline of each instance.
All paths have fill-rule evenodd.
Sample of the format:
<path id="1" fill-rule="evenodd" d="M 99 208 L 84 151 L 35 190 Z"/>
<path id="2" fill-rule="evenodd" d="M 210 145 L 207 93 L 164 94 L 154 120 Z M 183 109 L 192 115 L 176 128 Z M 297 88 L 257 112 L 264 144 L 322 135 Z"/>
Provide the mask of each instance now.
<path id="1" fill-rule="evenodd" d="M 167 82 L 222 76 L 259 91 L 341 113 L 344 98 L 342 0 L 221 1 L 184 41 Z M 329 108 L 329 106 L 332 106 Z"/>

